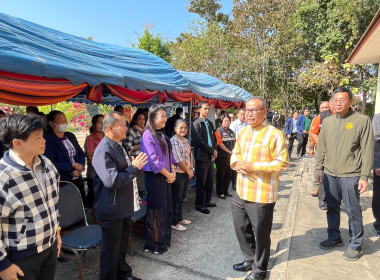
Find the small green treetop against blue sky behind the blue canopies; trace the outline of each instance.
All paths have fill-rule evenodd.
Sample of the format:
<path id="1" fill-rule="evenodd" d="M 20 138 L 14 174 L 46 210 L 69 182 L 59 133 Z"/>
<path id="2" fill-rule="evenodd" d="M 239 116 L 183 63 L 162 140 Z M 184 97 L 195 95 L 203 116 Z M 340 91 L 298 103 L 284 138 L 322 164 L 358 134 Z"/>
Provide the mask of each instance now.
<path id="1" fill-rule="evenodd" d="M 161 34 L 154 35 L 146 28 L 144 34 L 138 37 L 137 47 L 151 52 L 170 63 L 170 43 L 164 40 Z"/>

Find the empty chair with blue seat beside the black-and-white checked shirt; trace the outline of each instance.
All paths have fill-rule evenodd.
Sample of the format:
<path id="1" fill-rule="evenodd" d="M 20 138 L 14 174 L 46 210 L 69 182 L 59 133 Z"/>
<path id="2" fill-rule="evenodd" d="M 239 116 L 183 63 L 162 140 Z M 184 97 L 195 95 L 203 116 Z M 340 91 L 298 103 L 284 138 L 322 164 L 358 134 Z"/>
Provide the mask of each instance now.
<path id="1" fill-rule="evenodd" d="M 69 231 L 62 236 L 60 257 L 77 263 L 79 279 L 82 280 L 83 269 L 79 254 L 85 254 L 88 249 L 100 245 L 102 230 L 98 225 L 88 225 L 80 192 L 71 182 L 62 181 L 59 184 L 58 210 L 61 232 Z"/>

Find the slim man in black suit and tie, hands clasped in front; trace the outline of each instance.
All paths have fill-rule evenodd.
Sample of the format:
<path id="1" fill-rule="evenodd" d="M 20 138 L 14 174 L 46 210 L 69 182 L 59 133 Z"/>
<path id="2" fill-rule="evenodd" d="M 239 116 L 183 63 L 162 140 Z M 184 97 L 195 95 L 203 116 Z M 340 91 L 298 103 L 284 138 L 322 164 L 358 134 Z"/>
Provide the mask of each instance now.
<path id="1" fill-rule="evenodd" d="M 210 105 L 202 101 L 198 105 L 199 118 L 193 123 L 197 132 L 196 139 L 193 137 L 194 157 L 196 160 L 196 198 L 195 209 L 203 214 L 210 214 L 207 207 L 215 207 L 211 203 L 214 176 L 214 160 L 218 156 L 216 151 L 216 138 L 213 123 L 207 119 L 210 113 Z"/>

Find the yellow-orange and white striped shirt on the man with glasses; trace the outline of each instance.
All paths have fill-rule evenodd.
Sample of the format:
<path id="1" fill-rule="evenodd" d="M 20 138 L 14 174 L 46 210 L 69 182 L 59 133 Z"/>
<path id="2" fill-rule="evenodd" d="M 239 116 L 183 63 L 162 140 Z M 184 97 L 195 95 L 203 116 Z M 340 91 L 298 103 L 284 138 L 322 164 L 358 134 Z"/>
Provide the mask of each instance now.
<path id="1" fill-rule="evenodd" d="M 243 160 L 252 162 L 254 172 L 238 173 L 236 192 L 239 197 L 250 202 L 276 202 L 280 171 L 289 166 L 281 131 L 265 121 L 255 128 L 243 127 L 232 151 L 231 165 Z"/>

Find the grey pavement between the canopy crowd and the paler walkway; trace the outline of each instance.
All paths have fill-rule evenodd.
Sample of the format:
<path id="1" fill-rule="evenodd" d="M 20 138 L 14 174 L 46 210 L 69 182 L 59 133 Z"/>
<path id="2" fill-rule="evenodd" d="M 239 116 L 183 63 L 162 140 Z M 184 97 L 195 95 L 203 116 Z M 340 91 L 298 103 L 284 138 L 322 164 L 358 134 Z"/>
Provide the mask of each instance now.
<path id="1" fill-rule="evenodd" d="M 276 252 L 279 233 L 283 228 L 288 197 L 291 193 L 295 163 L 281 175 L 279 200 L 275 208 L 271 255 Z M 230 190 L 232 193 L 233 191 Z M 243 256 L 235 236 L 231 198 L 222 200 L 215 194 L 210 208 L 204 215 L 194 210 L 195 189 L 189 190 L 189 199 L 184 205 L 184 218 L 191 220 L 185 232 L 172 232 L 169 251 L 163 255 L 142 252 L 144 236 L 133 234 L 135 255 L 127 255 L 133 274 L 144 280 L 211 280 L 244 279 L 247 273 L 234 271 L 232 265 L 241 262 Z M 100 248 L 89 250 L 82 257 L 84 279 L 98 279 Z M 58 262 L 56 279 L 79 279 L 75 263 Z"/>

